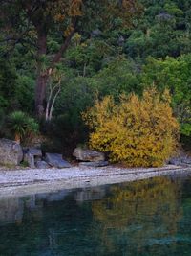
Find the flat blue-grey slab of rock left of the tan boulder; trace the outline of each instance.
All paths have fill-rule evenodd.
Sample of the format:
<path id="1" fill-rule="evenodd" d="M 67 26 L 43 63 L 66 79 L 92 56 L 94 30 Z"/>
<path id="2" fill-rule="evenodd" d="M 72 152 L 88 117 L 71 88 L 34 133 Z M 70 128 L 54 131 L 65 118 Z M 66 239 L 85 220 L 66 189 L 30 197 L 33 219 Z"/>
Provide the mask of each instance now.
<path id="1" fill-rule="evenodd" d="M 46 153 L 45 161 L 55 168 L 70 168 L 70 163 L 62 159 L 62 155 L 59 153 Z"/>

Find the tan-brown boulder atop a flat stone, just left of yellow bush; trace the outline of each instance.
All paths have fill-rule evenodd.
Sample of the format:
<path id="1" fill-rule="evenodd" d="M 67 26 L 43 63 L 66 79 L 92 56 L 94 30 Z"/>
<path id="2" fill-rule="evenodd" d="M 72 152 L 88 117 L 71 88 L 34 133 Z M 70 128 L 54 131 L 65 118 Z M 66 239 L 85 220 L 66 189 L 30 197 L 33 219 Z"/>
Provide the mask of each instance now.
<path id="1" fill-rule="evenodd" d="M 82 150 L 81 148 L 76 148 L 73 155 L 77 160 L 83 162 L 99 162 L 105 160 L 104 153 L 91 150 Z"/>

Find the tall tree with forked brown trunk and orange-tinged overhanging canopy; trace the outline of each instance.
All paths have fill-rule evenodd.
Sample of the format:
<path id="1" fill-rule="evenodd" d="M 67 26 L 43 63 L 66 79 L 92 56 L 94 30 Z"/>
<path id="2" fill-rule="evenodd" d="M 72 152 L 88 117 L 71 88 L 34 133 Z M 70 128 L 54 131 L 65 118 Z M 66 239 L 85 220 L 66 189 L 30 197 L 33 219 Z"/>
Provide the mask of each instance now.
<path id="1" fill-rule="evenodd" d="M 11 42 L 8 50 L 16 43 L 30 43 L 36 49 L 35 111 L 39 117 L 45 110 L 49 76 L 74 33 L 93 23 L 111 29 L 117 19 L 120 26 L 129 26 L 137 11 L 138 4 L 133 0 L 1 0 L 0 23 L 4 24 L 4 40 Z M 48 41 L 53 32 L 59 49 L 49 53 Z"/>

